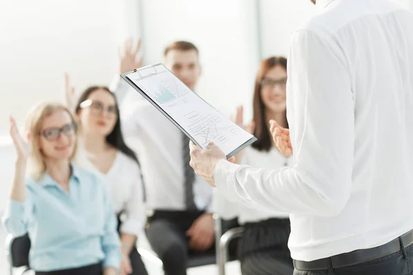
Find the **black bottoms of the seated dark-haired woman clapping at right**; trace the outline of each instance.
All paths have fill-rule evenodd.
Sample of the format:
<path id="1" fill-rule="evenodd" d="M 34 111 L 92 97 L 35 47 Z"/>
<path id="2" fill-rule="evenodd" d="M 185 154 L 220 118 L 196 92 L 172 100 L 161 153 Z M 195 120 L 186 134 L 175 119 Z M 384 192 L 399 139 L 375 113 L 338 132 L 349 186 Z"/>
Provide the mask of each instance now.
<path id="1" fill-rule="evenodd" d="M 246 223 L 238 245 L 242 275 L 292 275 L 289 219 Z"/>

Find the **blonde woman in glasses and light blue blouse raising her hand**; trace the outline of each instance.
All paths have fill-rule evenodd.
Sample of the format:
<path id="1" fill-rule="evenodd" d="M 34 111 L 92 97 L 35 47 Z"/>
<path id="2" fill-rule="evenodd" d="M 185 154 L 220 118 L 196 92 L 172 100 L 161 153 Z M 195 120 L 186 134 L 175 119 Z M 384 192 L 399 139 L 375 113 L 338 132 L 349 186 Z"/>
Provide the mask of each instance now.
<path id="1" fill-rule="evenodd" d="M 103 179 L 72 166 L 76 124 L 61 104 L 42 103 L 26 121 L 28 142 L 10 118 L 17 162 L 3 223 L 28 232 L 36 275 L 117 274 L 121 254 L 116 217 Z M 28 158 L 32 164 L 25 179 Z"/>

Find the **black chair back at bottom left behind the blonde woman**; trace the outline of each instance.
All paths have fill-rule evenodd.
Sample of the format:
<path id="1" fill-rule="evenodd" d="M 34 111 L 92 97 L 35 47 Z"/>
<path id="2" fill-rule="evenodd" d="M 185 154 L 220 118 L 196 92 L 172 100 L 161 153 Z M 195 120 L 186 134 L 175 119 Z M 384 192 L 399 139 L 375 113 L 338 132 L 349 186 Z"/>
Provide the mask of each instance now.
<path id="1" fill-rule="evenodd" d="M 6 256 L 10 266 L 10 275 L 14 275 L 14 268 L 21 267 L 23 275 L 30 270 L 29 265 L 30 239 L 29 235 L 13 237 L 8 235 L 6 238 Z"/>

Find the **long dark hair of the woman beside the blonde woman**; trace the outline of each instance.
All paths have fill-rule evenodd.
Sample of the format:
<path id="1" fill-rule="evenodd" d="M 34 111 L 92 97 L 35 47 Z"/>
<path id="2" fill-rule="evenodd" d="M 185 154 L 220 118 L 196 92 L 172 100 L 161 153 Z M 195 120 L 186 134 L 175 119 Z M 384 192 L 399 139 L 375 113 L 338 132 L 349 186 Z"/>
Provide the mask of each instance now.
<path id="1" fill-rule="evenodd" d="M 88 100 L 90 94 L 92 94 L 94 91 L 98 89 L 103 89 L 107 91 L 109 94 L 111 94 L 114 97 L 115 106 L 116 106 L 116 114 L 117 114 L 116 124 L 112 132 L 109 133 L 109 135 L 107 135 L 106 142 L 114 146 L 114 148 L 118 149 L 120 152 L 124 153 L 131 159 L 134 159 L 134 161 L 139 164 L 136 153 L 131 148 L 129 148 L 126 145 L 125 140 L 123 140 L 122 130 L 120 129 L 120 113 L 119 113 L 118 100 L 116 100 L 116 96 L 109 90 L 109 88 L 102 87 L 102 86 L 92 86 L 92 87 L 85 89 L 85 91 L 83 91 L 83 93 L 81 94 L 81 97 L 79 98 L 76 104 L 76 109 L 75 109 L 76 114 L 78 114 L 78 112 L 81 110 L 81 103 L 85 100 Z"/>

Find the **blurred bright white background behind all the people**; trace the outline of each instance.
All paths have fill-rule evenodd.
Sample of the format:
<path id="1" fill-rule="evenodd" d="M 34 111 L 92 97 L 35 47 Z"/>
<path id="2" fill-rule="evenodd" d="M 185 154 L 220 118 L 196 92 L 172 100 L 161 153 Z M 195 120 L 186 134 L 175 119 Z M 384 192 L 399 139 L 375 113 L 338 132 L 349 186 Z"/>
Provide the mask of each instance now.
<path id="1" fill-rule="evenodd" d="M 413 10 L 413 0 L 394 1 Z M 0 0 L 0 215 L 14 166 L 9 115 L 21 125 L 35 102 L 62 101 L 64 72 L 80 93 L 109 85 L 128 37 L 142 39 L 144 65 L 162 62 L 168 43 L 191 41 L 199 94 L 227 115 L 244 104 L 249 119 L 257 65 L 286 56 L 295 28 L 316 12 L 308 0 Z"/>

